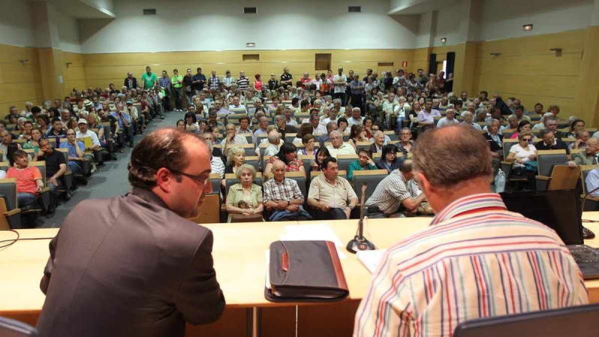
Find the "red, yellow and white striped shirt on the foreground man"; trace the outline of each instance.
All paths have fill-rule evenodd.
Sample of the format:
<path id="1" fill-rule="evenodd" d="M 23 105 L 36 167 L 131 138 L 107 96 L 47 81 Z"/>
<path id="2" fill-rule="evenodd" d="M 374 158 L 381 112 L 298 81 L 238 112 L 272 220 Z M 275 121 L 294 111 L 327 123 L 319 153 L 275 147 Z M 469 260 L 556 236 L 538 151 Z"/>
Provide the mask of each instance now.
<path id="1" fill-rule="evenodd" d="M 497 194 L 449 204 L 432 227 L 383 256 L 353 336 L 443 336 L 479 317 L 588 303 L 555 231 L 509 212 Z"/>

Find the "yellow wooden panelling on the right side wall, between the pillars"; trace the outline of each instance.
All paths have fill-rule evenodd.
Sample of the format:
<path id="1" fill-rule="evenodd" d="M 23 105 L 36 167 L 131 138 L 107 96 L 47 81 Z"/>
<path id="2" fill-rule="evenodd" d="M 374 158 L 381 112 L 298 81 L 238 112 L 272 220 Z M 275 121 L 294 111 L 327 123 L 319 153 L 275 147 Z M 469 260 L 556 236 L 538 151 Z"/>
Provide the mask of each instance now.
<path id="1" fill-rule="evenodd" d="M 546 107 L 558 104 L 562 118 L 576 115 L 574 97 L 579 89 L 585 34 L 582 29 L 481 42 L 473 73 L 474 91 L 521 98 L 527 109 L 537 102 Z M 551 48 L 561 48 L 561 56 Z"/>

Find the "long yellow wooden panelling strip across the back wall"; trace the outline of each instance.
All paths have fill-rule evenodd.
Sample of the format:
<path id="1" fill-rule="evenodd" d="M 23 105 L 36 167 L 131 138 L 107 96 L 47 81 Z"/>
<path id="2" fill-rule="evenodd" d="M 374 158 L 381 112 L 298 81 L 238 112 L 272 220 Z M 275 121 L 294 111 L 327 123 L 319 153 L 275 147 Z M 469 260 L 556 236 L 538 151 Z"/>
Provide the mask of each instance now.
<path id="1" fill-rule="evenodd" d="M 259 61 L 242 61 L 246 51 L 225 52 L 171 52 L 171 53 L 118 53 L 84 55 L 84 72 L 89 86 L 105 88 L 108 83 L 119 84 L 128 71 L 133 71 L 140 77 L 146 65 L 159 74 L 167 70 L 169 74 L 174 68 L 184 72 L 186 68 L 202 67 L 204 74 L 216 70 L 223 76 L 225 70 L 231 70 L 237 77 L 240 70 L 253 79 L 253 74 L 262 74 L 268 80 L 271 73 L 282 73 L 284 67 L 289 67 L 294 79 L 299 79 L 304 71 L 314 76 L 314 54 L 331 53 L 331 68 L 343 67 L 347 72 L 354 70 L 361 76 L 367 68 L 377 71 L 379 62 L 394 62 L 394 67 L 400 67 L 402 61 L 412 64 L 412 50 L 252 50 L 251 53 L 260 55 Z M 320 73 L 321 71 L 319 71 Z"/>

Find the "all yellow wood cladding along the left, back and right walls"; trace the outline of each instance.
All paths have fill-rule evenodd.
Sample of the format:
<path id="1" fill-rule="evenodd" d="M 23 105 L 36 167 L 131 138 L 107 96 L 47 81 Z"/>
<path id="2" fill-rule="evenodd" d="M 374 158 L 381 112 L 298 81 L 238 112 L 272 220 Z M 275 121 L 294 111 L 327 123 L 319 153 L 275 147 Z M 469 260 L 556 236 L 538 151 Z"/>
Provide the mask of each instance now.
<path id="1" fill-rule="evenodd" d="M 314 76 L 314 54 L 331 53 L 331 68 L 344 67 L 345 71 L 354 70 L 361 76 L 367 68 L 374 71 L 388 71 L 401 67 L 408 62 L 407 70 L 415 72 L 418 68 L 428 69 L 430 53 L 437 54 L 437 61 L 443 61 L 447 52 L 456 53 L 455 91 L 466 90 L 471 95 L 480 90 L 503 97 L 519 97 L 527 109 L 533 109 L 535 103 L 544 106 L 558 104 L 562 118 L 577 115 L 596 124 L 592 111 L 578 111 L 575 107 L 576 95 L 582 97 L 585 88 L 579 88 L 581 80 L 582 52 L 587 30 L 560 32 L 556 34 L 534 35 L 531 37 L 510 38 L 505 40 L 470 42 L 453 46 L 420 49 L 371 49 L 371 50 L 253 50 L 260 55 L 259 61 L 243 61 L 246 51 L 226 52 L 158 52 L 158 53 L 108 53 L 77 54 L 62 52 L 61 57 L 54 55 L 55 74 L 63 74 L 63 95 L 72 88 L 106 88 L 108 83 L 122 85 L 128 71 L 140 78 L 146 65 L 160 73 L 166 69 L 169 73 L 179 68 L 202 67 L 205 74 L 216 70 L 223 75 L 225 70 L 238 76 L 240 70 L 253 78 L 260 73 L 267 80 L 270 73 L 278 75 L 283 67 L 291 68 L 294 78 L 299 79 L 304 71 Z M 562 55 L 556 56 L 550 48 L 561 48 Z M 500 53 L 492 56 L 491 53 Z M 7 112 L 8 106 L 23 106 L 25 101 L 36 101 L 47 97 L 48 85 L 40 79 L 40 54 L 38 49 L 0 45 L 0 115 Z M 29 62 L 20 64 L 20 59 Z M 59 61 L 56 61 L 59 60 Z M 62 63 L 60 63 L 62 62 Z M 394 62 L 393 66 L 381 66 L 379 62 Z M 59 64 L 60 63 L 60 64 Z M 66 63 L 70 63 L 67 67 Z M 319 71 L 320 73 L 320 71 Z M 48 81 L 46 79 L 45 81 Z M 588 97 L 593 96 L 589 89 Z M 53 91 L 54 92 L 54 91 Z M 50 95 L 54 95 L 53 93 Z M 63 96 L 62 95 L 62 96 Z M 596 125 L 595 125 L 596 126 Z"/>

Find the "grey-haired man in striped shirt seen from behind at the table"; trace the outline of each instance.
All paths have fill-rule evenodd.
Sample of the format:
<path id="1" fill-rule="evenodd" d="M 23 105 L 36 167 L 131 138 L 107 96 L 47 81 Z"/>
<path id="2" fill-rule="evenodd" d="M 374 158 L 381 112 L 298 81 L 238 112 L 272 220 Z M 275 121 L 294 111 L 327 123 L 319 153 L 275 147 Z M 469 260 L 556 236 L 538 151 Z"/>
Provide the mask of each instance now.
<path id="1" fill-rule="evenodd" d="M 558 234 L 509 212 L 491 193 L 491 155 L 480 131 L 450 126 L 420 134 L 413 174 L 436 216 L 387 249 L 356 311 L 354 337 L 451 336 L 474 318 L 588 303 L 582 273 Z M 531 257 L 534 263 L 517 263 Z M 481 303 L 483 311 L 464 309 Z"/>

